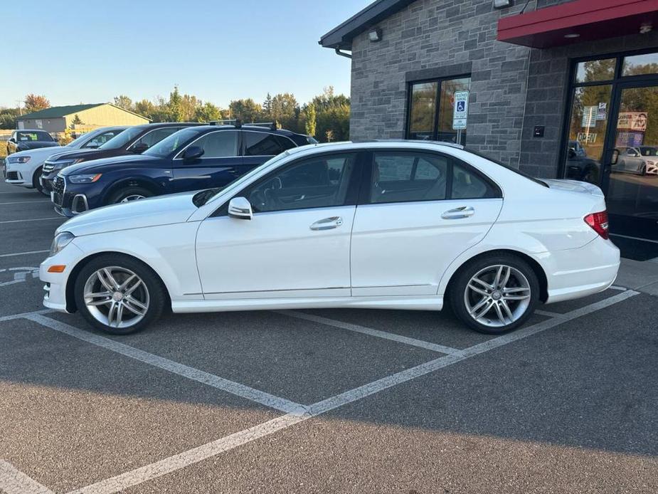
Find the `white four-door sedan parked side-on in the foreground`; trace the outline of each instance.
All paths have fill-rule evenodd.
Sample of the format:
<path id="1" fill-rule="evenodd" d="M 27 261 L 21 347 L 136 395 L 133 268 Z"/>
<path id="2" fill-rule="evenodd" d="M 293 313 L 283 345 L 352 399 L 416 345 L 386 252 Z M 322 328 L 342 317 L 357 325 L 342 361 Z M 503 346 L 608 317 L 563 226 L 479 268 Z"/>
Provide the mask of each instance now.
<path id="1" fill-rule="evenodd" d="M 107 206 L 58 228 L 44 305 L 115 334 L 174 312 L 441 310 L 499 334 L 600 292 L 619 250 L 597 186 L 455 145 L 290 149 L 223 189 Z"/>

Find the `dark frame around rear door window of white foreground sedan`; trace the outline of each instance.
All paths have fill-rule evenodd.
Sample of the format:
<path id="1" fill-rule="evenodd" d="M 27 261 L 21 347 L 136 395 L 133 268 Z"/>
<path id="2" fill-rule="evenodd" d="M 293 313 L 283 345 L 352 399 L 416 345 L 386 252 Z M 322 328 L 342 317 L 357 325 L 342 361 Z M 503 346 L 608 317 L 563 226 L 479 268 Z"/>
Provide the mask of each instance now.
<path id="1" fill-rule="evenodd" d="M 377 153 L 396 153 L 396 154 L 415 154 L 422 156 L 423 154 L 432 155 L 435 157 L 442 157 L 447 159 L 447 172 L 446 172 L 446 184 L 445 184 L 445 198 L 444 199 L 419 199 L 417 201 L 391 201 L 391 202 L 372 202 L 371 201 L 371 184 L 372 184 L 372 174 L 375 164 L 375 154 Z M 468 164 L 463 159 L 459 159 L 452 154 L 432 151 L 430 149 L 408 149 L 408 148 L 395 148 L 395 147 L 386 147 L 379 149 L 371 149 L 369 152 L 370 156 L 367 159 L 366 172 L 364 172 L 364 177 L 361 180 L 361 189 L 359 191 L 359 202 L 357 206 L 379 206 L 382 204 L 415 204 L 418 202 L 437 202 L 437 201 L 484 201 L 491 199 L 503 199 L 503 191 L 500 186 L 494 182 L 491 178 L 487 177 L 486 174 L 480 172 L 479 169 Z M 453 167 L 455 164 L 467 170 L 467 172 L 474 174 L 479 179 L 482 179 L 483 182 L 488 184 L 494 195 L 492 197 L 474 197 L 471 199 L 468 198 L 453 198 L 452 197 L 452 176 L 453 176 Z"/>

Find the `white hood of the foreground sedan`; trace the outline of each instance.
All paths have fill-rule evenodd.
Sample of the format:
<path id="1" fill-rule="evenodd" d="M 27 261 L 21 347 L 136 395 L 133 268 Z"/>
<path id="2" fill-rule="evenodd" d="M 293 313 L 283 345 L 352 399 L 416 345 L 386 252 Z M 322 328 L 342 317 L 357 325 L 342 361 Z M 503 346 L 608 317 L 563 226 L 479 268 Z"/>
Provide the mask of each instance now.
<path id="1" fill-rule="evenodd" d="M 181 192 L 92 209 L 73 216 L 57 228 L 56 233 L 69 231 L 75 236 L 84 236 L 182 223 L 196 211 L 192 203 L 194 194 L 196 192 Z"/>

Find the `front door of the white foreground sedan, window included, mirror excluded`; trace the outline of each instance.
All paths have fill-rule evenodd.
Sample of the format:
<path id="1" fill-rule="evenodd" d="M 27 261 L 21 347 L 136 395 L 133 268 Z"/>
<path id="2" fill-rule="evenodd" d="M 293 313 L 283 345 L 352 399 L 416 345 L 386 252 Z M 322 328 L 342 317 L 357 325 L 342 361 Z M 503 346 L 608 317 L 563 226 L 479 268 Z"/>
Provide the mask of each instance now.
<path id="1" fill-rule="evenodd" d="M 354 152 L 297 159 L 237 194 L 253 219 L 227 216 L 225 204 L 204 220 L 196 238 L 204 297 L 349 297 L 358 162 Z"/>

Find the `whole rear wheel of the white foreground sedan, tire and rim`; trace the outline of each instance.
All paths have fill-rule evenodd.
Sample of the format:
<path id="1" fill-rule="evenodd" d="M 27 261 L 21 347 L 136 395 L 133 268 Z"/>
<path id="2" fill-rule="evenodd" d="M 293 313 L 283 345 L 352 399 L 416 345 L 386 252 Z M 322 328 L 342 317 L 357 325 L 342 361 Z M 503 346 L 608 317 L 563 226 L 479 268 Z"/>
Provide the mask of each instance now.
<path id="1" fill-rule="evenodd" d="M 511 254 L 492 254 L 468 263 L 451 283 L 455 315 L 472 329 L 500 335 L 521 326 L 534 311 L 539 282 L 534 270 Z"/>

